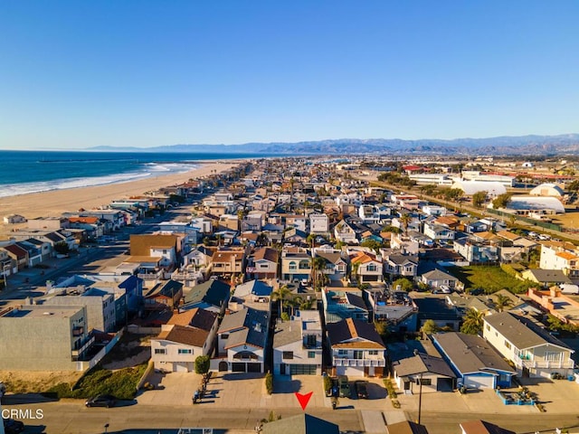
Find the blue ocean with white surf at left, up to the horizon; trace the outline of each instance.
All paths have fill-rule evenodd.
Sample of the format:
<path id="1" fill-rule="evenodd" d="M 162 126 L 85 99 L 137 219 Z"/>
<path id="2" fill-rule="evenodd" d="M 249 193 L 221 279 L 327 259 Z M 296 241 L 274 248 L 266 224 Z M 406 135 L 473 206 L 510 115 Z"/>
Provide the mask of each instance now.
<path id="1" fill-rule="evenodd" d="M 263 156 L 266 155 L 0 150 L 0 197 L 185 173 L 204 160 Z"/>

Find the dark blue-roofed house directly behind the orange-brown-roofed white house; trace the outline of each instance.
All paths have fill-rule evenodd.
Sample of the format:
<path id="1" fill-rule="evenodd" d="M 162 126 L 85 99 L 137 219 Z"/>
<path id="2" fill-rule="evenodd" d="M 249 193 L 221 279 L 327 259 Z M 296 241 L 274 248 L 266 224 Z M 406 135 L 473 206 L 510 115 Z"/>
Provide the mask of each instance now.
<path id="1" fill-rule="evenodd" d="M 369 309 L 359 288 L 332 288 L 322 291 L 326 323 L 336 323 L 346 318 L 368 321 Z"/>

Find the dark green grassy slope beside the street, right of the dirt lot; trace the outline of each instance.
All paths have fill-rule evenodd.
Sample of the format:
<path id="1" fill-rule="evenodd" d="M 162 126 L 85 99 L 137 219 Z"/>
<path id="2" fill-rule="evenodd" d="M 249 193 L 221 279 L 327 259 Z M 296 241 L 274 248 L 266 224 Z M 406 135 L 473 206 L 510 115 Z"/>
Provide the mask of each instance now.
<path id="1" fill-rule="evenodd" d="M 70 383 L 61 382 L 43 394 L 59 399 L 90 398 L 100 394 L 110 394 L 119 400 L 132 400 L 137 394 L 137 383 L 146 369 L 147 363 L 117 371 L 110 371 L 97 366 L 86 373 L 74 389 Z"/>

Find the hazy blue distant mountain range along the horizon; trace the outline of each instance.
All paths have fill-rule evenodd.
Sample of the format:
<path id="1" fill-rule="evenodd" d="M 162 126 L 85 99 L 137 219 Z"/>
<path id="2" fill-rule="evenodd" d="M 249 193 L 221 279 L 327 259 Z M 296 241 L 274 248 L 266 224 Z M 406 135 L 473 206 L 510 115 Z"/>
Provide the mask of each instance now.
<path id="1" fill-rule="evenodd" d="M 118 152 L 179 152 L 214 154 L 280 154 L 280 155 L 456 155 L 472 156 L 555 156 L 579 155 L 579 134 L 561 136 L 521 136 L 457 138 L 340 138 L 297 143 L 244 143 L 242 145 L 170 145 L 155 147 L 97 146 L 88 150 Z"/>

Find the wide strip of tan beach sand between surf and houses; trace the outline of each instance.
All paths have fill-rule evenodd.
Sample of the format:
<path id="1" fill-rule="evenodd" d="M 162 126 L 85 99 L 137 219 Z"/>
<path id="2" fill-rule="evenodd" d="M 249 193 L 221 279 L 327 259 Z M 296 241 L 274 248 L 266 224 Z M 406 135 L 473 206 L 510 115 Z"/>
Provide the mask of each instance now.
<path id="1" fill-rule="evenodd" d="M 26 219 L 58 217 L 62 212 L 77 212 L 81 208 L 90 210 L 106 206 L 115 199 L 126 199 L 147 191 L 157 190 L 157 188 L 181 184 L 190 178 L 201 178 L 214 173 L 219 174 L 238 164 L 236 161 L 204 162 L 199 168 L 183 174 L 161 175 L 128 183 L 2 197 L 0 198 L 0 218 L 4 218 L 8 214 L 24 215 Z M 5 224 L 2 220 L 0 222 L 0 240 L 4 239 L 6 234 L 12 229 L 25 226 L 25 223 Z"/>

